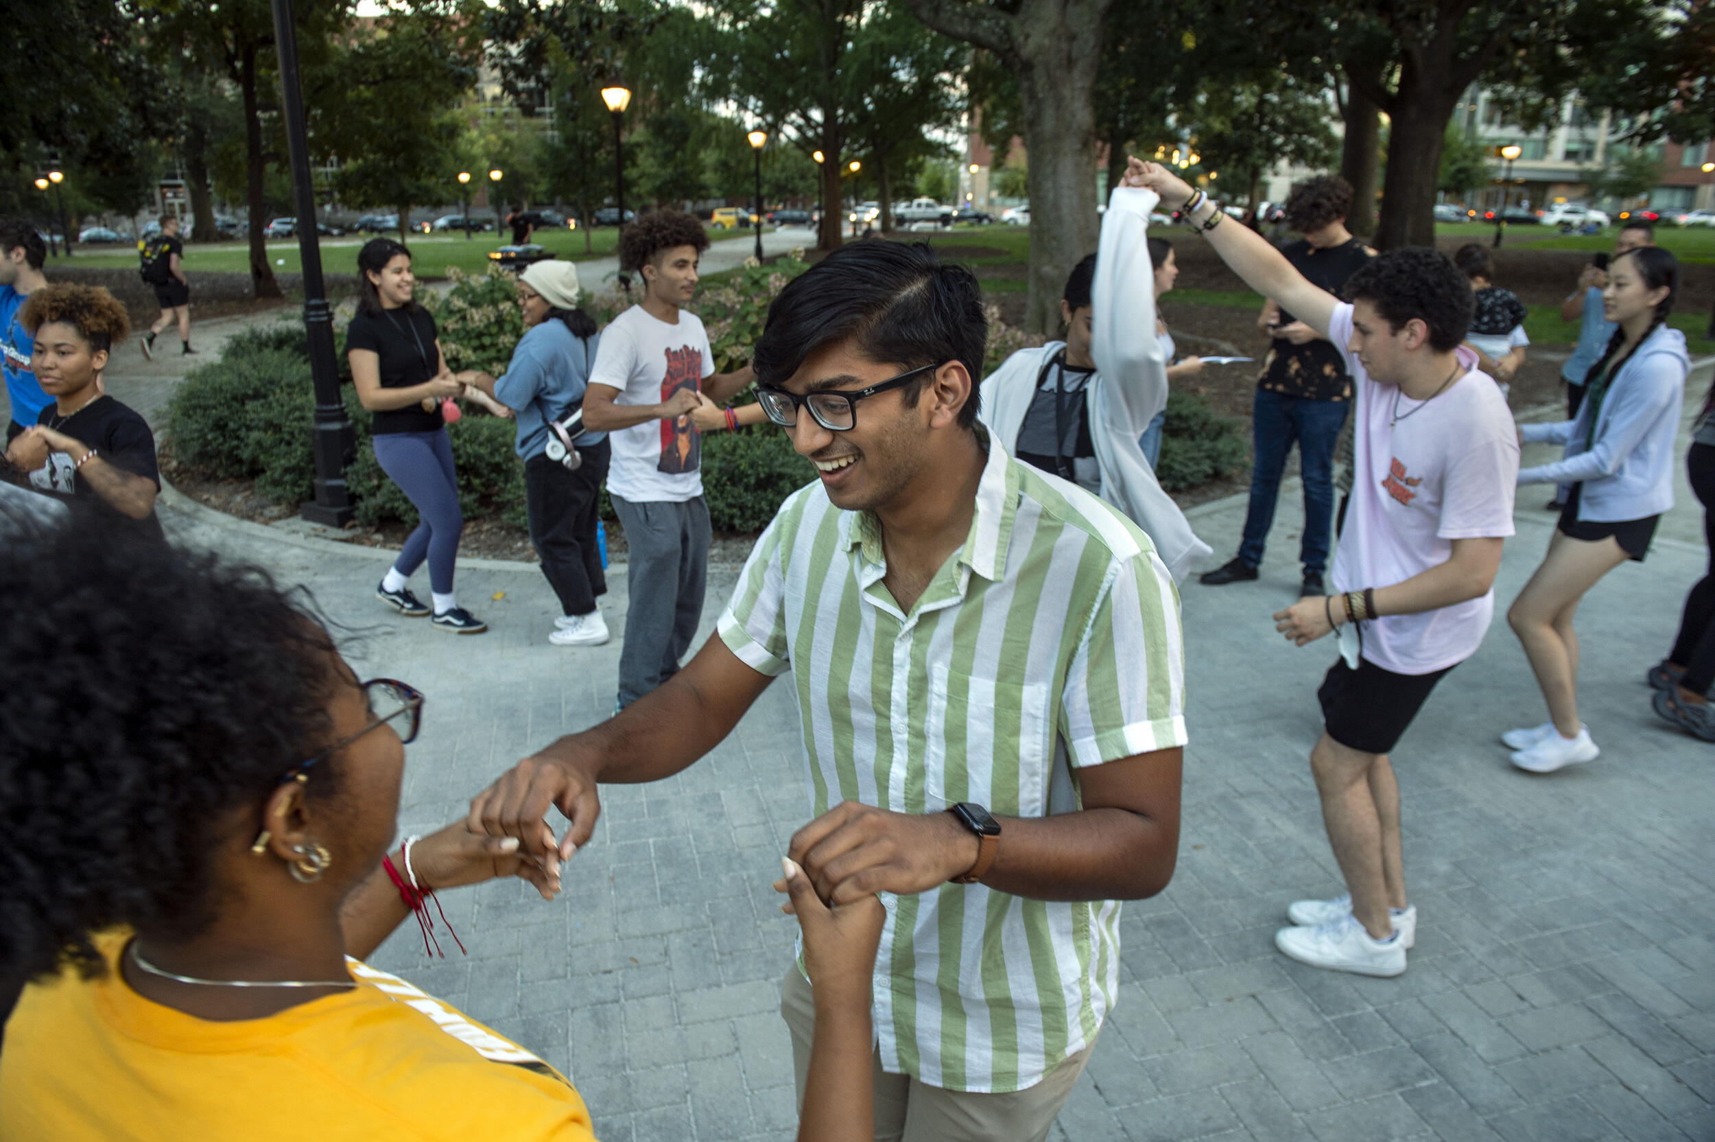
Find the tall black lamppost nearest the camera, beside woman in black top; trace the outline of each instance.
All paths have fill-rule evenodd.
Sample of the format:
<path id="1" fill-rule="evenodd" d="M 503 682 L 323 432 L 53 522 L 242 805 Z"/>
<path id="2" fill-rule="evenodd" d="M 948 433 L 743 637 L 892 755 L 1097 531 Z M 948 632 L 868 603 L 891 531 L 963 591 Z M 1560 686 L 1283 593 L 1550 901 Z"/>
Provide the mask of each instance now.
<path id="1" fill-rule="evenodd" d="M 298 257 L 304 261 L 304 329 L 310 348 L 310 382 L 316 388 L 316 499 L 298 514 L 310 523 L 343 528 L 352 521 L 352 492 L 345 466 L 357 444 L 352 422 L 340 400 L 340 367 L 333 352 L 333 309 L 321 276 L 321 237 L 316 231 L 316 183 L 310 178 L 310 149 L 304 134 L 304 94 L 298 89 L 298 39 L 292 22 L 292 0 L 273 0 L 274 53 L 280 60 L 281 110 L 286 115 L 286 151 L 292 156 L 292 197 L 298 207 Z M 50 175 L 51 177 L 51 175 Z"/>

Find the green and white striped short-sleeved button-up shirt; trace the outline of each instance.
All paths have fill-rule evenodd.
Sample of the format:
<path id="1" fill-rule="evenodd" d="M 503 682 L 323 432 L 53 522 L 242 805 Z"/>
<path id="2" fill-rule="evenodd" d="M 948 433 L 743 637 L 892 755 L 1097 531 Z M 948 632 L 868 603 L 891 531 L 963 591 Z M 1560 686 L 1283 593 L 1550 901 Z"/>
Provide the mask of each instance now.
<path id="1" fill-rule="evenodd" d="M 1072 770 L 1185 744 L 1173 578 L 1094 496 L 990 441 L 971 535 L 909 614 L 885 573 L 875 516 L 813 484 L 780 506 L 720 617 L 748 665 L 794 672 L 813 814 L 1072 813 Z M 1118 902 L 942 885 L 885 904 L 887 1070 L 1022 1091 L 1094 1043 L 1118 989 Z"/>

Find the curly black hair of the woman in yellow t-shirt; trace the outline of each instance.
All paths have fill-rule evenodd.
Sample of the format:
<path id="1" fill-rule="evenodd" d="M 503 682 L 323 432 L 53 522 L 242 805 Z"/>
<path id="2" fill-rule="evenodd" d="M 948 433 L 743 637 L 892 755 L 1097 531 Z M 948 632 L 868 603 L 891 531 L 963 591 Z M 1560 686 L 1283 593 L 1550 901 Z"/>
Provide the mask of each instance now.
<path id="1" fill-rule="evenodd" d="M 0 597 L 0 979 L 194 936 L 233 813 L 331 737 L 331 636 L 257 568 L 87 521 L 9 535 Z"/>

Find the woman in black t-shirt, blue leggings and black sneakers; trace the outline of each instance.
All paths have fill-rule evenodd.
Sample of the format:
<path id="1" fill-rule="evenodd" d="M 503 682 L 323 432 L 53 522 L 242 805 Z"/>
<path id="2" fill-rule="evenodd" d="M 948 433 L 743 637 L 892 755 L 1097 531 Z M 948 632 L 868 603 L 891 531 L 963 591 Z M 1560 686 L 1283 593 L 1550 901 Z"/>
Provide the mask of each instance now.
<path id="1" fill-rule="evenodd" d="M 357 316 L 345 331 L 352 382 L 372 413 L 376 461 L 420 518 L 376 586 L 376 598 L 403 616 L 429 614 L 406 586 L 427 559 L 436 629 L 478 634 L 487 624 L 460 607 L 453 593 L 465 516 L 442 415 L 444 403 L 463 394 L 465 384 L 446 367 L 434 317 L 413 300 L 410 252 L 393 238 L 372 238 L 357 254 Z"/>

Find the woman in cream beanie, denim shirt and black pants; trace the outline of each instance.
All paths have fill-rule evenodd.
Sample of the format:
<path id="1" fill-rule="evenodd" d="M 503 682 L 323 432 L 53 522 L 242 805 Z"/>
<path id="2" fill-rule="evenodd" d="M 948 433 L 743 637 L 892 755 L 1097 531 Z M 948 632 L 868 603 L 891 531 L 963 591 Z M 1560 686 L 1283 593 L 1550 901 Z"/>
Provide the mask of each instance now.
<path id="1" fill-rule="evenodd" d="M 569 417 L 583 403 L 600 336 L 595 321 L 578 309 L 578 267 L 571 262 L 533 262 L 518 276 L 518 309 L 525 336 L 513 350 L 506 372 L 458 374 L 460 381 L 499 400 L 518 417 L 518 458 L 525 461 L 525 511 L 530 544 L 542 574 L 559 598 L 559 617 L 547 641 L 556 646 L 595 646 L 609 638 L 595 600 L 607 593 L 602 552 L 597 545 L 597 506 L 607 477 L 611 446 L 605 432 L 573 429 L 573 453 L 549 422 Z M 576 466 L 566 461 L 576 458 Z"/>

